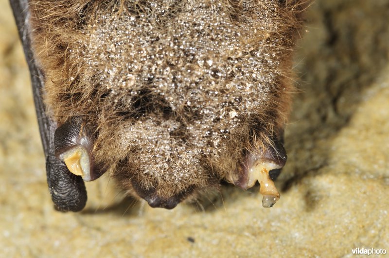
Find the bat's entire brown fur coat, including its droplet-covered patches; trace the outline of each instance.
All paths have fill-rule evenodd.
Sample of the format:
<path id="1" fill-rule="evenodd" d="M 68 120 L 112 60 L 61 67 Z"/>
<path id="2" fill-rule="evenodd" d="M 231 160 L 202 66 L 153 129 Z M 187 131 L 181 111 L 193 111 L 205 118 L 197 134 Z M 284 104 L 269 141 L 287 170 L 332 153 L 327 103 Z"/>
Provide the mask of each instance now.
<path id="1" fill-rule="evenodd" d="M 83 117 L 95 129 L 97 162 L 130 194 L 131 180 L 169 197 L 234 178 L 244 150 L 265 151 L 286 123 L 305 2 L 31 0 L 47 112 L 59 125 Z M 188 31 L 195 39 L 185 45 Z"/>

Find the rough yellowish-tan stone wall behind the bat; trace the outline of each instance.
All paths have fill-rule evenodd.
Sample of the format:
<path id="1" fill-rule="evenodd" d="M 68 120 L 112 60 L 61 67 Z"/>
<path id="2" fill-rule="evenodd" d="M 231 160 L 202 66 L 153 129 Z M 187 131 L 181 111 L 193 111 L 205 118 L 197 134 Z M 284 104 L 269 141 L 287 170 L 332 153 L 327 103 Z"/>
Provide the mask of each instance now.
<path id="1" fill-rule="evenodd" d="M 349 257 L 389 251 L 389 0 L 316 0 L 298 43 L 281 200 L 223 186 L 151 209 L 107 177 L 80 213 L 53 210 L 29 72 L 0 0 L 0 257 Z"/>

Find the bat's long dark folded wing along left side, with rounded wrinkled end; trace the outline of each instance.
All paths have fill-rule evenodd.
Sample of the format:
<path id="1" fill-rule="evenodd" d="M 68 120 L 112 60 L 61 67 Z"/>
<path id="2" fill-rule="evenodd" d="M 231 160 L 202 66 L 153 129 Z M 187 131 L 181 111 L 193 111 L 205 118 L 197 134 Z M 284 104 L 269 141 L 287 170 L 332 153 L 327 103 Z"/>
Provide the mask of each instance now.
<path id="1" fill-rule="evenodd" d="M 31 14 L 28 0 L 10 0 L 10 3 L 30 69 L 36 116 L 46 157 L 47 183 L 54 207 L 60 211 L 82 210 L 87 201 L 87 191 L 82 177 L 71 174 L 65 163 L 57 160 L 54 156 L 54 131 L 57 126 L 46 114 L 46 107 L 42 99 L 45 75 L 36 64 L 31 47 L 31 33 L 29 31 Z"/>

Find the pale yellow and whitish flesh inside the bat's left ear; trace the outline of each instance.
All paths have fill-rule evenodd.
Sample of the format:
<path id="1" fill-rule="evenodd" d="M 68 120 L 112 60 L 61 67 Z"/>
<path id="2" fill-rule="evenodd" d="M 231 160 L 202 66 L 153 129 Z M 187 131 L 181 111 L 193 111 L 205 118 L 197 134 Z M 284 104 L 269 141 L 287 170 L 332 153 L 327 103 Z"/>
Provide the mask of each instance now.
<path id="1" fill-rule="evenodd" d="M 82 145 L 72 147 L 63 153 L 60 158 L 65 162 L 71 173 L 81 176 L 84 181 L 90 181 L 89 154 Z"/>

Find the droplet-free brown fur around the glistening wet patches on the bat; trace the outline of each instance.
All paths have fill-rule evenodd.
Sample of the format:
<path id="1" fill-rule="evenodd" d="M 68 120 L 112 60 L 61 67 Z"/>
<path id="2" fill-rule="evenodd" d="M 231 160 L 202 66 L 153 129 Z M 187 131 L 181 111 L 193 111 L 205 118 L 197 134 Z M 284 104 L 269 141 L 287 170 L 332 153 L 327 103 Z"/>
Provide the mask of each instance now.
<path id="1" fill-rule="evenodd" d="M 213 1 L 204 0 L 204 2 L 212 4 Z M 158 195 L 165 198 L 182 192 L 188 192 L 187 195 L 194 196 L 197 192 L 217 187 L 218 182 L 222 179 L 233 182 L 238 177 L 239 164 L 245 161 L 247 153 L 261 155 L 266 151 L 266 148 L 272 146 L 273 137 L 282 137 L 283 127 L 290 109 L 291 93 L 294 91 L 293 81 L 290 79 L 293 77 L 290 72 L 290 55 L 294 47 L 295 37 L 298 35 L 298 29 L 301 26 L 301 12 L 306 7 L 306 1 L 220 0 L 218 2 L 221 3 L 221 9 L 230 16 L 231 23 L 237 26 L 243 22 L 242 17 L 255 15 L 244 10 L 245 3 L 255 3 L 258 8 L 265 8 L 266 3 L 269 2 L 277 6 L 277 16 L 274 19 L 274 22 L 278 23 L 277 30 L 269 31 L 266 37 L 270 42 L 278 40 L 277 46 L 271 47 L 269 45 L 268 49 L 269 51 L 273 51 L 272 48 L 275 49 L 280 65 L 272 81 L 268 82 L 271 85 L 271 92 L 268 94 L 265 104 L 256 108 L 250 115 L 242 115 L 239 119 L 239 125 L 231 130 L 225 138 L 222 138 L 220 147 L 210 145 L 212 148 L 210 153 L 197 155 L 194 160 L 200 166 L 196 170 L 192 168 L 187 176 L 173 180 L 173 174 L 163 177 L 158 172 L 143 171 L 145 163 L 140 156 L 140 148 L 147 147 L 147 142 L 144 143 L 144 146 L 130 145 L 123 143 L 125 142 L 123 136 L 128 134 L 129 128 L 139 119 L 147 122 L 151 117 L 150 121 L 154 123 L 153 126 L 156 130 L 154 133 L 159 133 L 160 128 L 157 125 L 177 121 L 176 117 L 180 117 L 178 124 L 184 126 L 175 129 L 174 137 L 180 141 L 187 140 L 185 139 L 186 127 L 195 123 L 196 119 L 193 117 L 196 114 L 184 106 L 172 110 L 168 102 L 155 97 L 152 91 L 147 91 L 147 82 L 130 86 L 131 89 L 138 87 L 137 90 L 143 90 L 138 94 L 138 98 L 128 97 L 125 90 L 112 96 L 111 92 L 107 90 L 107 85 L 101 85 L 100 79 L 96 78 L 98 76 L 91 74 L 88 67 L 80 65 L 80 60 L 74 58 L 75 54 L 69 51 L 74 50 L 75 42 L 88 40 L 85 39 L 86 35 L 80 31 L 87 30 L 88 26 L 93 25 L 96 14 L 101 10 L 110 10 L 108 21 L 112 17 L 125 16 L 129 13 L 131 15 L 147 14 L 150 12 L 149 10 L 152 10 L 147 9 L 149 2 L 142 0 L 30 1 L 33 14 L 31 26 L 34 29 L 35 58 L 46 78 L 45 103 L 48 107 L 47 113 L 58 125 L 65 123 L 71 117 L 82 117 L 88 124 L 88 128 L 93 128 L 96 162 L 110 166 L 112 177 L 116 178 L 119 185 L 129 194 L 139 196 L 134 189 L 134 182 L 137 182 L 143 189 L 153 189 Z M 129 9 L 129 5 L 133 8 Z M 185 1 L 177 0 L 175 7 L 171 9 L 172 18 L 180 15 L 181 5 L 185 5 Z M 145 11 L 145 8 L 148 11 Z M 253 18 L 255 19 L 255 17 Z M 258 33 L 258 38 L 242 37 L 241 40 L 246 41 L 245 44 L 256 47 L 258 42 L 266 42 L 267 39 L 264 41 L 265 32 Z M 210 31 L 209 33 L 215 32 Z M 102 49 L 102 52 L 104 51 Z M 217 58 L 227 59 L 229 57 L 226 53 L 225 57 Z M 179 70 L 179 65 L 172 69 Z M 220 79 L 220 81 L 222 80 L 224 79 Z M 214 90 L 223 92 L 224 84 L 216 83 L 213 87 Z M 137 106 L 140 109 L 134 108 L 136 101 L 138 104 L 140 103 Z M 118 102 L 120 104 L 117 104 Z M 142 106 L 143 104 L 145 106 Z M 224 129 L 226 125 L 229 125 L 226 123 L 215 122 L 212 125 L 213 131 L 218 132 Z M 166 125 L 166 128 L 168 127 L 169 125 Z M 162 128 L 164 127 L 162 126 Z M 147 136 L 149 135 L 147 134 Z M 190 149 L 188 144 L 185 146 Z M 167 172 L 170 173 L 169 169 Z"/>

